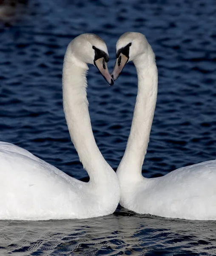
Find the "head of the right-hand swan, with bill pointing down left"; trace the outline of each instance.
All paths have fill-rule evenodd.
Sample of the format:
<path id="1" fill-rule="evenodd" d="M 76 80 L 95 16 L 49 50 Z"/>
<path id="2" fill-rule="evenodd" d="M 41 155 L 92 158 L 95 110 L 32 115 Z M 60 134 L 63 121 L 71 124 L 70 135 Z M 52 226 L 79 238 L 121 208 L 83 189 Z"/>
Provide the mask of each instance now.
<path id="1" fill-rule="evenodd" d="M 138 32 L 126 32 L 120 36 L 116 44 L 116 63 L 111 74 L 114 81 L 119 77 L 125 64 L 147 53 L 151 46 L 148 44 L 145 35 Z"/>

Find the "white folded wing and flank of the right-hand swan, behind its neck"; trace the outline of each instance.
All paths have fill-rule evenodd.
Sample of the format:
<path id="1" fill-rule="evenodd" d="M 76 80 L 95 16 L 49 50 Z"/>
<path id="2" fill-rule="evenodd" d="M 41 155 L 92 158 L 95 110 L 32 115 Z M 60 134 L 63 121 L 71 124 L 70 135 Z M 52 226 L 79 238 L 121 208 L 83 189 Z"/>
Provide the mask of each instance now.
<path id="1" fill-rule="evenodd" d="M 215 181 L 216 160 L 149 179 L 148 186 L 137 191 L 137 210 L 170 218 L 216 220 Z"/>

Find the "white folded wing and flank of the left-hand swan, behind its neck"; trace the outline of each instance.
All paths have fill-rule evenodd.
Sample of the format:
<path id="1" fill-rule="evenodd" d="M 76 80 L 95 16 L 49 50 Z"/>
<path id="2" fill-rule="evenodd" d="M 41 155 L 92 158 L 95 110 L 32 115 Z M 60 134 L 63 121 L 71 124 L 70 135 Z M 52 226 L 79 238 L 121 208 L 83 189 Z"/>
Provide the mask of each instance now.
<path id="1" fill-rule="evenodd" d="M 22 148 L 1 146 L 0 219 L 82 218 L 86 183 Z"/>

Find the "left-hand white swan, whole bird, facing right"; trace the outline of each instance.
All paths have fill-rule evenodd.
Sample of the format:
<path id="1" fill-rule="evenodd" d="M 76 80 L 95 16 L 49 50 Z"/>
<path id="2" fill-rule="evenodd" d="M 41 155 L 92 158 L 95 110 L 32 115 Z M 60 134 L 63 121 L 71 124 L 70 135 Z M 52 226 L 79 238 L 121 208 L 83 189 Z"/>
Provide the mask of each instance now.
<path id="1" fill-rule="evenodd" d="M 63 64 L 63 108 L 71 140 L 88 172 L 88 183 L 66 175 L 16 145 L 0 143 L 0 219 L 49 220 L 109 215 L 119 203 L 114 170 L 94 140 L 86 97 L 87 64 L 94 64 L 109 84 L 108 50 L 94 34 L 68 44 Z"/>

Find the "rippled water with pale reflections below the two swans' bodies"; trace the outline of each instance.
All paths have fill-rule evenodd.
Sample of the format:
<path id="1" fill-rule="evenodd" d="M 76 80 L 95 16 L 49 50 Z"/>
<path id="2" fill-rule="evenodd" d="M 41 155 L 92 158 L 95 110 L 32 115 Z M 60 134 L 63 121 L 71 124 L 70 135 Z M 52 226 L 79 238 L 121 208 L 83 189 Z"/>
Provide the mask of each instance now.
<path id="1" fill-rule="evenodd" d="M 216 255 L 216 222 L 115 214 L 86 220 L 0 221 L 1 255 Z M 42 253 L 42 254 L 41 254 Z"/>

